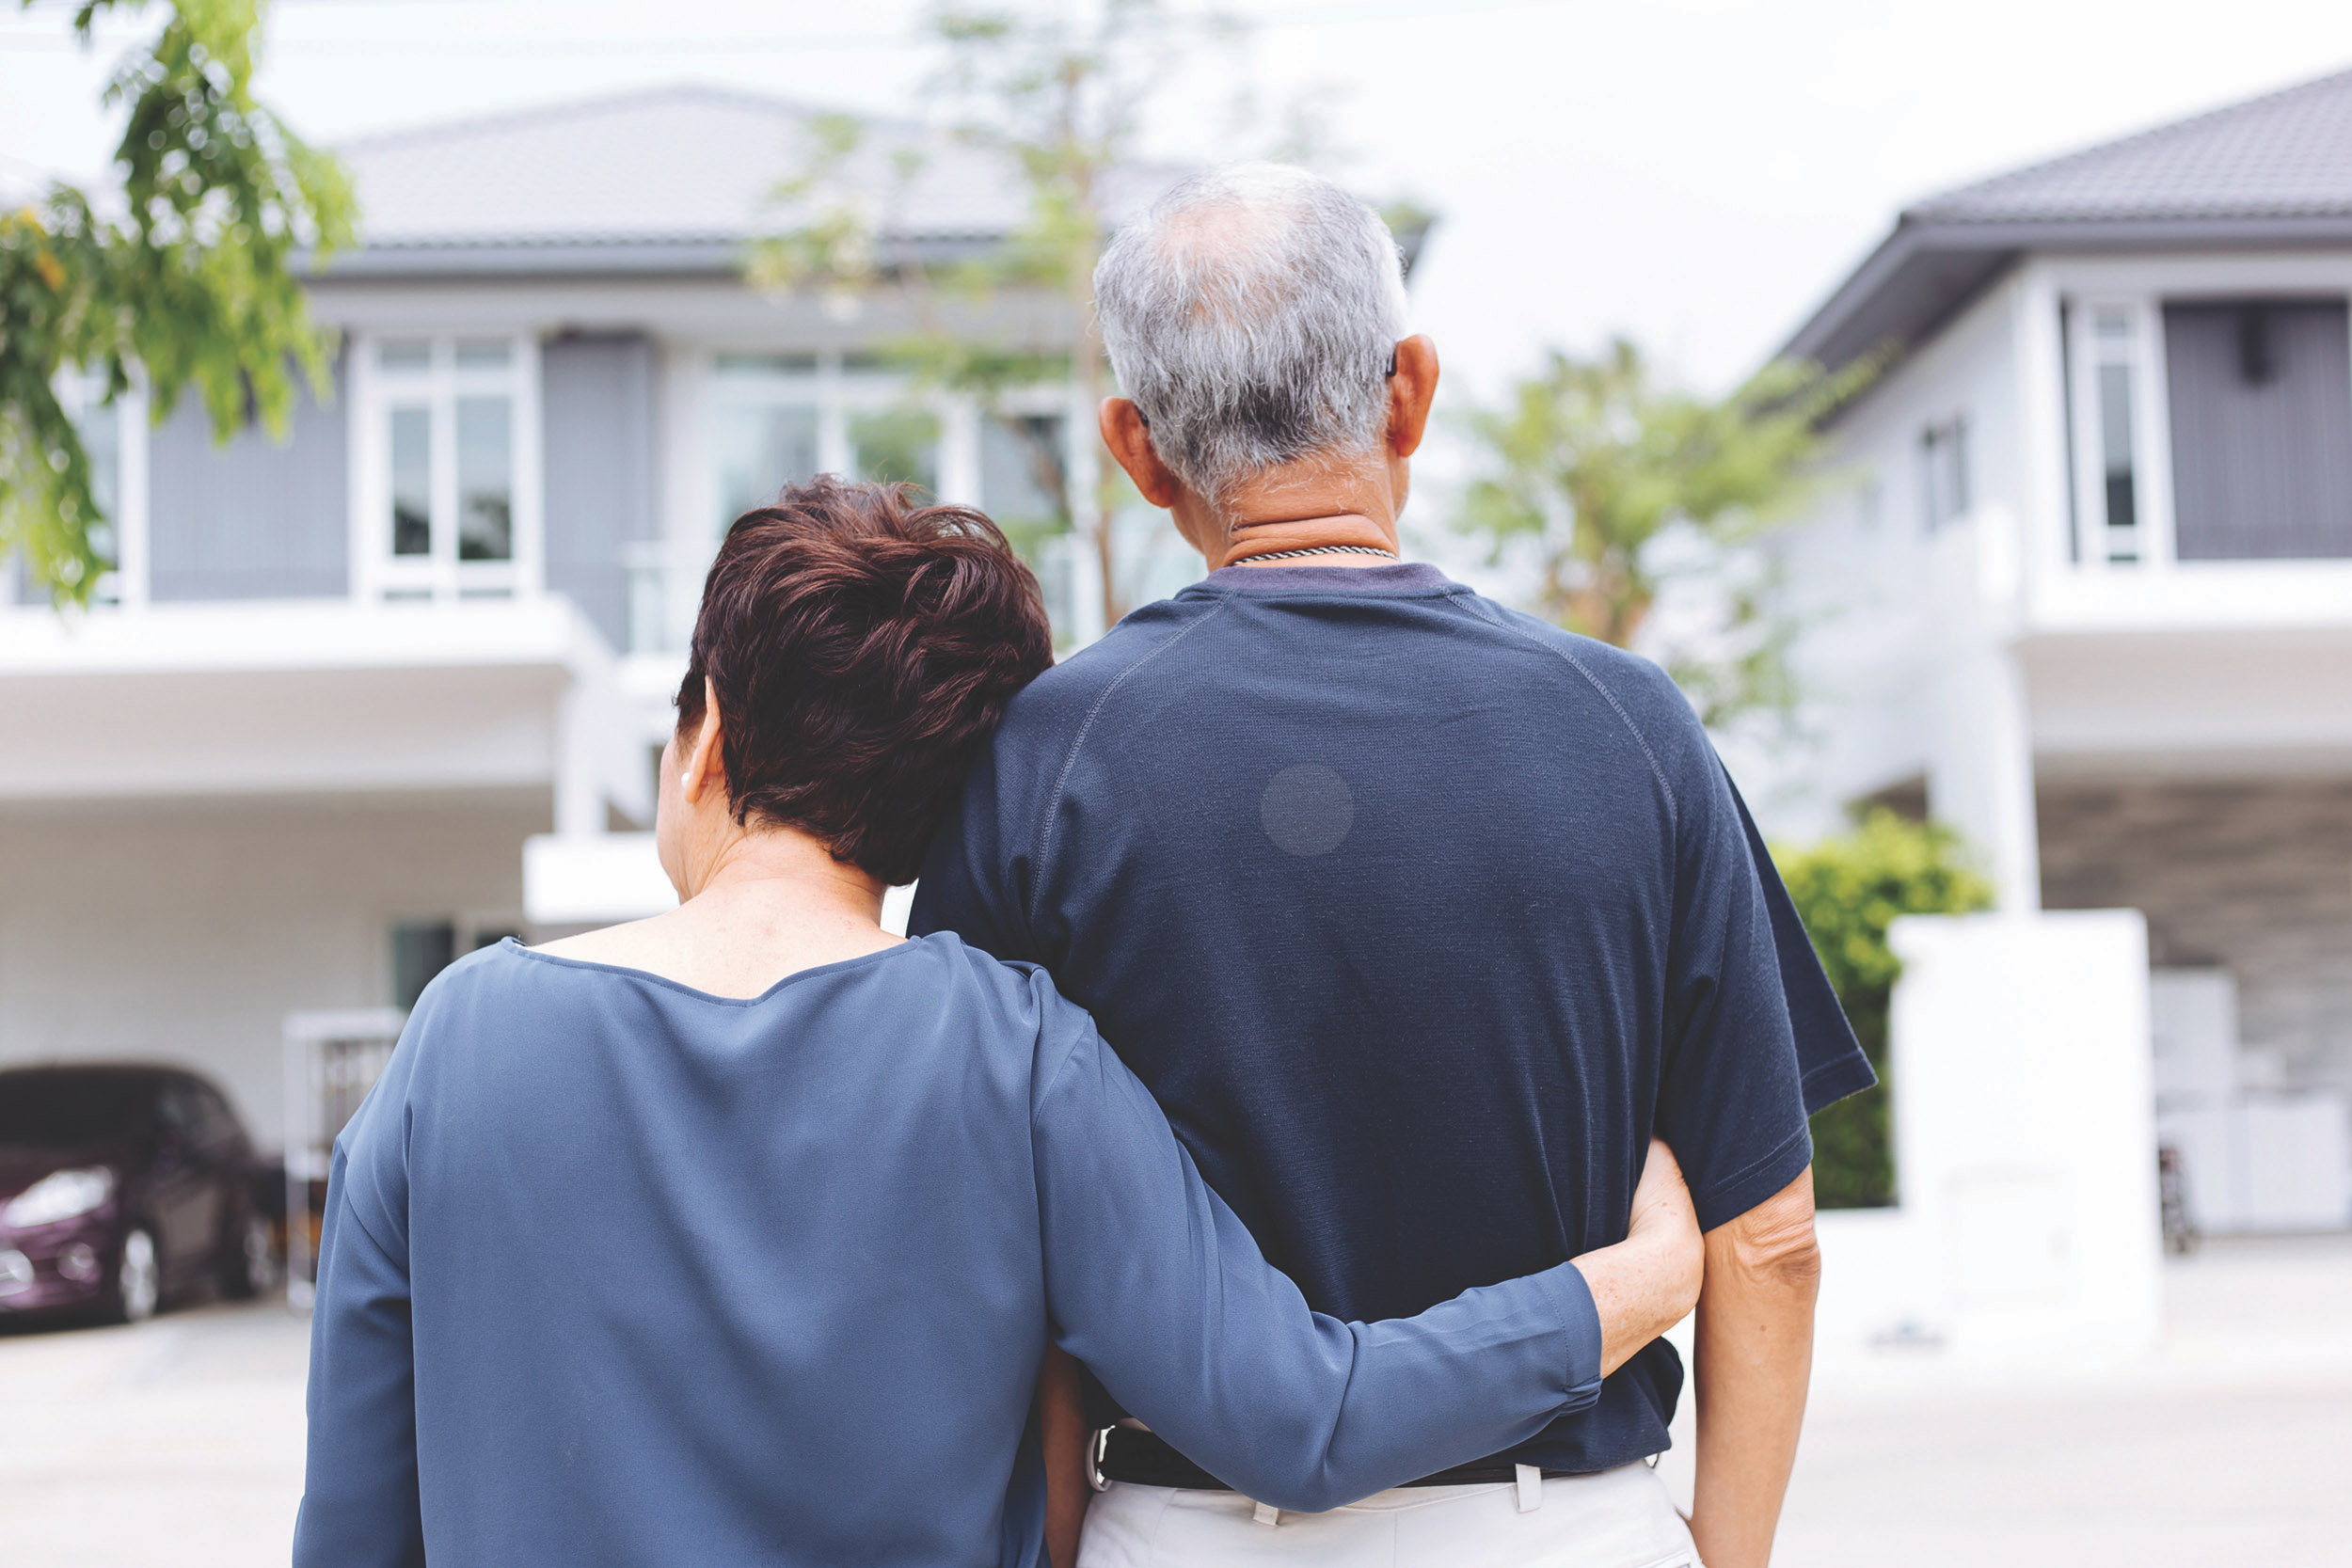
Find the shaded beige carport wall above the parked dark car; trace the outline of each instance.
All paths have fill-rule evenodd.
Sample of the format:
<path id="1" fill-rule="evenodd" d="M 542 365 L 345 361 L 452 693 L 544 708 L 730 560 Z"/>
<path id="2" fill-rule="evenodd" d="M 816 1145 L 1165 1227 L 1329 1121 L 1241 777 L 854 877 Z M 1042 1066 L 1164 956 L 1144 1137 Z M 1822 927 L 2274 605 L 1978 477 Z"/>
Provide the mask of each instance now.
<path id="1" fill-rule="evenodd" d="M 0 1063 L 216 1077 L 280 1143 L 280 1023 L 390 1001 L 390 926 L 513 922 L 548 795 L 0 811 Z"/>

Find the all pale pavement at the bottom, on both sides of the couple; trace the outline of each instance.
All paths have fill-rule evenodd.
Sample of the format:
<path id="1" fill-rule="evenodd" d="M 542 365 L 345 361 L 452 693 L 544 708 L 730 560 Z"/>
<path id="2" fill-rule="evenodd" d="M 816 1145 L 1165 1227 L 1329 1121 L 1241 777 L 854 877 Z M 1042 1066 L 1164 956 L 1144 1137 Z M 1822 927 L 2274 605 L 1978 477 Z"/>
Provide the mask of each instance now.
<path id="1" fill-rule="evenodd" d="M 2166 1302 L 2122 1366 L 1823 1368 L 1776 1563 L 2352 1561 L 2352 1237 L 2209 1244 Z M 0 1561 L 285 1563 L 303 1361 L 275 1305 L 0 1333 Z"/>

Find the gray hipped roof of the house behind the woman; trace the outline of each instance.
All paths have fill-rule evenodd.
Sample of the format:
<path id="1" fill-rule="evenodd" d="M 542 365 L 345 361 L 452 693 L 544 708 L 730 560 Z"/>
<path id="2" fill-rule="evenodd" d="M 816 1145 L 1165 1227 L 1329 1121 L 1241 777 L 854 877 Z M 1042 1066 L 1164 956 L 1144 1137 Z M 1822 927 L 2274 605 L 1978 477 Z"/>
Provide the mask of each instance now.
<path id="1" fill-rule="evenodd" d="M 586 103 L 367 136 L 336 148 L 360 197 L 360 249 L 334 275 L 703 273 L 790 228 L 774 197 L 800 176 L 826 110 L 720 87 L 663 87 Z M 1028 190 L 1002 155 L 906 120 L 868 136 L 835 181 L 884 235 L 957 252 L 1007 235 Z M 898 155 L 920 153 L 910 179 Z M 1127 172 L 1112 216 L 1176 169 Z"/>

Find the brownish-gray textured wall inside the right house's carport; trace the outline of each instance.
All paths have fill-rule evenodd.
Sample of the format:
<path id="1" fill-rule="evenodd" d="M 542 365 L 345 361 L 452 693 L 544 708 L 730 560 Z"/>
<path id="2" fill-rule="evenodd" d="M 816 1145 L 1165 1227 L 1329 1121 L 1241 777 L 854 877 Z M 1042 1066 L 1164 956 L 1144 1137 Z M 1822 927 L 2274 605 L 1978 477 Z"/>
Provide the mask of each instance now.
<path id="1" fill-rule="evenodd" d="M 2147 914 L 2159 969 L 2227 969 L 2279 1088 L 2352 1091 L 2352 778 L 2051 783 L 2042 900 Z"/>

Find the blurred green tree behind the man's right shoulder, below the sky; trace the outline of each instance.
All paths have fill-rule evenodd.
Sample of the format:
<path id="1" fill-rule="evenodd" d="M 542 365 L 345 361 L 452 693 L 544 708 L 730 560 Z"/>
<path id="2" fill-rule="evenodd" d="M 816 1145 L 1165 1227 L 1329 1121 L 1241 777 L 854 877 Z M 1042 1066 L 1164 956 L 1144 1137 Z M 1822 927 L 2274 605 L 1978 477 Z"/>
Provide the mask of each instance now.
<path id="1" fill-rule="evenodd" d="M 1592 360 L 1555 348 L 1501 409 L 1468 416 L 1484 473 L 1456 527 L 1498 562 L 1531 552 L 1536 609 L 1616 646 L 1651 628 L 1668 576 L 1712 574 L 1719 623 L 1653 651 L 1708 724 L 1788 708 L 1790 628 L 1752 545 L 1820 482 L 1820 418 L 1875 369 L 1783 360 L 1710 400 L 1661 386 L 1625 339 Z M 1693 548 L 1672 550 L 1677 534 Z"/>

